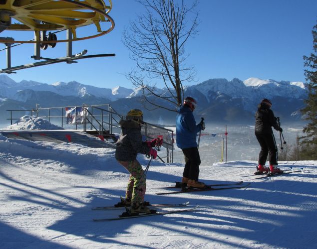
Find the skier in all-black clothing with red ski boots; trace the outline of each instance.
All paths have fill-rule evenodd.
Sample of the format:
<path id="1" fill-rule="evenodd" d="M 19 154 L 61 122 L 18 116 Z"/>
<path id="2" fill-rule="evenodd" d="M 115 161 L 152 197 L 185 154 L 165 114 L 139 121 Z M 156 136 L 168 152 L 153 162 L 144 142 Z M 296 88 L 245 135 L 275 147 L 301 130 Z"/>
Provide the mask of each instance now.
<path id="1" fill-rule="evenodd" d="M 262 174 L 263 172 L 279 173 L 281 170 L 278 165 L 278 147 L 276 145 L 275 137 L 272 131 L 272 126 L 279 131 L 283 129 L 277 123 L 277 119 L 271 110 L 272 103 L 268 99 L 263 99 L 258 105 L 256 112 L 255 135 L 260 143 L 261 151 L 259 154 L 258 171 L 255 174 Z M 265 166 L 269 154 L 270 168 Z"/>

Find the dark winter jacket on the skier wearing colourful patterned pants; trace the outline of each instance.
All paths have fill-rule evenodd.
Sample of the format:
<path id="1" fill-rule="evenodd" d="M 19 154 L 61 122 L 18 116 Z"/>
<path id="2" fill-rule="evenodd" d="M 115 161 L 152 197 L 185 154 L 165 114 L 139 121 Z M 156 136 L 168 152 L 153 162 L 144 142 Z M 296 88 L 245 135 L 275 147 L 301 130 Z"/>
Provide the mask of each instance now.
<path id="1" fill-rule="evenodd" d="M 133 120 L 120 120 L 121 134 L 116 142 L 116 159 L 134 161 L 138 153 L 149 154 L 150 147 L 142 141 L 141 125 Z"/>

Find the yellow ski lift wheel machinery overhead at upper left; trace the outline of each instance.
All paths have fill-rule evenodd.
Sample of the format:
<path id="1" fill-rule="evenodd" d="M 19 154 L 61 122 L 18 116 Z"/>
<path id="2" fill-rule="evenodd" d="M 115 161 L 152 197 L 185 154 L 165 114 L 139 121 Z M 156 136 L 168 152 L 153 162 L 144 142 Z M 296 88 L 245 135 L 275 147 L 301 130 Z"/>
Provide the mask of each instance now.
<path id="1" fill-rule="evenodd" d="M 107 4 L 105 3 L 107 2 Z M 0 73 L 14 73 L 13 71 L 48 65 L 58 62 L 74 63 L 75 60 L 115 56 L 115 54 L 85 55 L 87 50 L 72 54 L 72 42 L 91 39 L 109 33 L 114 28 L 114 21 L 108 15 L 112 9 L 111 0 L 0 0 L 0 32 L 33 31 L 32 40 L 14 40 L 11 37 L 0 37 L 0 43 L 6 48 L 6 66 Z M 16 22 L 12 22 L 12 20 Z M 105 30 L 100 22 L 107 22 Z M 94 24 L 96 31 L 92 34 L 78 37 L 78 27 Z M 48 31 L 48 33 L 46 33 Z M 66 38 L 58 40 L 56 33 L 65 31 Z M 40 49 L 55 47 L 56 43 L 66 43 L 66 56 L 60 58 L 44 58 L 40 56 Z M 42 60 L 35 63 L 11 67 L 11 48 L 23 43 L 34 43 L 34 55 L 31 58 Z M 0 50 L 1 51 L 1 50 Z"/>

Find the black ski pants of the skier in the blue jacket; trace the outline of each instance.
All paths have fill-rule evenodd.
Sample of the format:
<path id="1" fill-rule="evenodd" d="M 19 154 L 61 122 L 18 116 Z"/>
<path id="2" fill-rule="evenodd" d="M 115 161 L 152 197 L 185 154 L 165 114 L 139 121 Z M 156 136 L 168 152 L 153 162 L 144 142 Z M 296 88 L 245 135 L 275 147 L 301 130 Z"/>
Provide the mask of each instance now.
<path id="1" fill-rule="evenodd" d="M 197 147 L 182 149 L 185 157 L 183 176 L 198 181 L 199 165 L 201 163 Z"/>

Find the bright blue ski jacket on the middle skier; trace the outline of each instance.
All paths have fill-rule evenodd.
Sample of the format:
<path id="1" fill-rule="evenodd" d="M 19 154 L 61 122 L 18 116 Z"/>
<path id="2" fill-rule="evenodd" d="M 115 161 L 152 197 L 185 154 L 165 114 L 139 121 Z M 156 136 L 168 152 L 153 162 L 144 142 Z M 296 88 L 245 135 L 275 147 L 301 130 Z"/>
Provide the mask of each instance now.
<path id="1" fill-rule="evenodd" d="M 197 133 L 202 126 L 196 124 L 192 110 L 182 106 L 176 116 L 176 144 L 181 149 L 197 147 Z"/>

